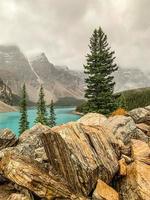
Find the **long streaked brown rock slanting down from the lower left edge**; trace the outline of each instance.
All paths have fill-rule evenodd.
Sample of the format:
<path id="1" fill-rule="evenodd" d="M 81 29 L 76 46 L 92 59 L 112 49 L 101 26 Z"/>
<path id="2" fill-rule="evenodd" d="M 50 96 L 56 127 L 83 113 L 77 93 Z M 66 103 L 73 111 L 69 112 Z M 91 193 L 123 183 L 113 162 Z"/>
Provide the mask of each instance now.
<path id="1" fill-rule="evenodd" d="M 0 161 L 0 171 L 12 182 L 34 192 L 40 198 L 80 199 L 72 194 L 60 177 L 43 170 L 38 162 L 13 152 L 7 152 Z"/>

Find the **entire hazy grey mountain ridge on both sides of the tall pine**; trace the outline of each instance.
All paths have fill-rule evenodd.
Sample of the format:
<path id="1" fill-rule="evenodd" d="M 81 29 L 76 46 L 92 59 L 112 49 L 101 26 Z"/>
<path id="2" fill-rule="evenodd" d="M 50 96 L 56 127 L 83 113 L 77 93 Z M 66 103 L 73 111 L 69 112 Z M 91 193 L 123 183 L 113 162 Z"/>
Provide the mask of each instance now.
<path id="1" fill-rule="evenodd" d="M 150 73 L 146 74 L 140 69 L 119 67 L 114 76 L 115 92 L 150 86 Z M 28 58 L 15 45 L 0 45 L 0 78 L 17 96 L 20 96 L 21 86 L 25 82 L 32 102 L 37 101 L 41 84 L 45 89 L 47 103 L 51 99 L 57 101 L 63 97 L 84 98 L 83 71 L 54 65 L 44 52 Z"/>

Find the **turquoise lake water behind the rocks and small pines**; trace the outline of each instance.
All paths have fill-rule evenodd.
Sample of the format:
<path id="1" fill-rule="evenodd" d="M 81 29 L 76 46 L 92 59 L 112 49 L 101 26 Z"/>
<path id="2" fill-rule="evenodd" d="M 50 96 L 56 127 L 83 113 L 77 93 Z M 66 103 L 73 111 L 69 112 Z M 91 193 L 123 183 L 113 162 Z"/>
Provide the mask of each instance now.
<path id="1" fill-rule="evenodd" d="M 73 114 L 72 112 L 74 110 L 75 110 L 74 107 L 56 108 L 55 113 L 56 113 L 57 125 L 78 120 L 80 116 Z M 0 113 L 0 129 L 9 128 L 14 133 L 18 134 L 19 117 L 20 117 L 19 112 Z M 35 109 L 28 110 L 28 120 L 30 122 L 30 127 L 34 125 L 35 117 L 36 117 L 36 110 Z"/>

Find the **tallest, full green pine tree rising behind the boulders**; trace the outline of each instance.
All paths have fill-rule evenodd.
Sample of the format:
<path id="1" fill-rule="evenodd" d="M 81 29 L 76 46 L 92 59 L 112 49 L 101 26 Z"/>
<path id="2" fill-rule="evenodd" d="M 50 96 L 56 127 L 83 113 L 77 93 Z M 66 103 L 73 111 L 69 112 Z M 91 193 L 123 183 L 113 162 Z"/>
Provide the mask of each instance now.
<path id="1" fill-rule="evenodd" d="M 115 82 L 112 73 L 118 67 L 114 63 L 114 51 L 110 50 L 107 36 L 101 28 L 94 30 L 89 48 L 87 64 L 84 66 L 87 75 L 85 79 L 87 105 L 89 111 L 109 114 L 116 109 L 116 100 L 113 96 Z"/>

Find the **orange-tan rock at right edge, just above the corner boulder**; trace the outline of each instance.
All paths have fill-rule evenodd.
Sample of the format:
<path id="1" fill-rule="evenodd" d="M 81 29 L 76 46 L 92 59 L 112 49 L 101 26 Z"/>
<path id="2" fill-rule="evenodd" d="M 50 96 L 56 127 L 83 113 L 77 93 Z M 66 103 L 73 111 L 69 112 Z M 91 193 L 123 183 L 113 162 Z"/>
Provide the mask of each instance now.
<path id="1" fill-rule="evenodd" d="M 140 140 L 132 140 L 131 153 L 134 160 L 150 165 L 150 147 L 147 143 Z"/>

